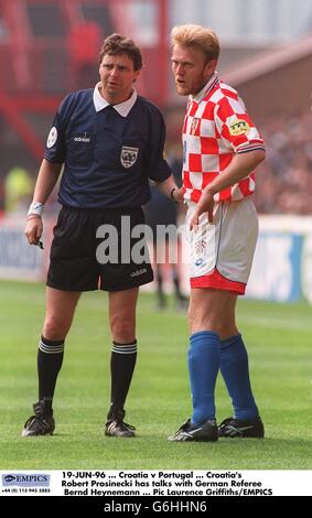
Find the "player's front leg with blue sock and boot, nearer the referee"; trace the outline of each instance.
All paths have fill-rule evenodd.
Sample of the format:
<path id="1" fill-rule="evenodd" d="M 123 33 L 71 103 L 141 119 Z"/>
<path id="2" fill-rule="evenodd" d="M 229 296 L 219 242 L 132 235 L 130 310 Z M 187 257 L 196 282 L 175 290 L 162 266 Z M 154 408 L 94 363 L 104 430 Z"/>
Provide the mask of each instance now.
<path id="1" fill-rule="evenodd" d="M 193 288 L 189 310 L 189 371 L 193 414 L 170 438 L 172 441 L 216 441 L 215 384 L 220 365 L 224 334 L 237 332 L 236 295 L 224 290 Z"/>

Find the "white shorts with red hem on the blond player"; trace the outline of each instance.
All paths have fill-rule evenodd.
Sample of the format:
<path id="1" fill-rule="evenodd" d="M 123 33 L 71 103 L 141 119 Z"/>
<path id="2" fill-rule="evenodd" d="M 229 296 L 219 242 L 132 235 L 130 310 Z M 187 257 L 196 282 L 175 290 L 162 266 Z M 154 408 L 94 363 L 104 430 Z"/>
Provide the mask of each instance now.
<path id="1" fill-rule="evenodd" d="M 258 237 L 258 216 L 250 197 L 220 202 L 214 223 L 202 214 L 197 230 L 190 230 L 195 203 L 186 214 L 191 288 L 214 288 L 244 294 Z"/>

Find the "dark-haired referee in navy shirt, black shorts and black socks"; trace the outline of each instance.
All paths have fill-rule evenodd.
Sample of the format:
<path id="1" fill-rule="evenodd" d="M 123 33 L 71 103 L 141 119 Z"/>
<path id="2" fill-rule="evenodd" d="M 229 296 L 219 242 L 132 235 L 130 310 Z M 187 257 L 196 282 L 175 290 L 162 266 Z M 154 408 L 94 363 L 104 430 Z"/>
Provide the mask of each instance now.
<path id="1" fill-rule="evenodd" d="M 141 206 L 150 199 L 149 179 L 163 194 L 175 201 L 180 197 L 163 159 L 162 116 L 133 88 L 141 68 L 142 55 L 132 40 L 108 36 L 99 55 L 100 82 L 63 100 L 47 137 L 28 213 L 30 245 L 40 242 L 43 207 L 64 165 L 58 192 L 62 209 L 54 228 L 46 314 L 37 350 L 39 402 L 23 436 L 53 433 L 52 402 L 65 338 L 82 292 L 98 288 L 109 293 L 112 337 L 111 404 L 105 433 L 135 436 L 135 428 L 123 421 L 123 406 L 137 358 L 139 287 L 151 282 L 153 274 L 148 261 L 138 265 L 132 255 L 130 260 L 121 258 L 122 218 L 130 220 L 129 236 L 135 226 L 144 223 Z M 97 261 L 97 229 L 101 225 L 118 231 L 117 261 Z M 130 246 L 138 240 L 131 237 Z"/>

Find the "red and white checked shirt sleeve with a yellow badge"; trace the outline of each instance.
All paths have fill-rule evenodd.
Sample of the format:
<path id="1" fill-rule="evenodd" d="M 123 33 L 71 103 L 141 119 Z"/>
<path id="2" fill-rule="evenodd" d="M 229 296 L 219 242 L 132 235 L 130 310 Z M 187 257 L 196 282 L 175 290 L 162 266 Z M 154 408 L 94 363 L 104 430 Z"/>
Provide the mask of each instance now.
<path id="1" fill-rule="evenodd" d="M 215 108 L 215 123 L 219 137 L 234 153 L 265 151 L 265 142 L 240 97 L 224 97 Z"/>

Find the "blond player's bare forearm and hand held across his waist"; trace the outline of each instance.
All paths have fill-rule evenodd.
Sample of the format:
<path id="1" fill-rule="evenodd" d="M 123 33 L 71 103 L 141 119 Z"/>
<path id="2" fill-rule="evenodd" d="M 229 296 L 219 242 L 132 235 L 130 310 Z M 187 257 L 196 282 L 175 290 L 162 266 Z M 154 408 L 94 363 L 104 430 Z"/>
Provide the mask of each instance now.
<path id="1" fill-rule="evenodd" d="M 265 158 L 266 152 L 261 150 L 236 154 L 228 166 L 204 188 L 190 228 L 198 225 L 203 213 L 208 213 L 208 222 L 213 223 L 214 195 L 248 176 Z"/>

